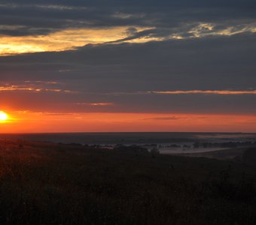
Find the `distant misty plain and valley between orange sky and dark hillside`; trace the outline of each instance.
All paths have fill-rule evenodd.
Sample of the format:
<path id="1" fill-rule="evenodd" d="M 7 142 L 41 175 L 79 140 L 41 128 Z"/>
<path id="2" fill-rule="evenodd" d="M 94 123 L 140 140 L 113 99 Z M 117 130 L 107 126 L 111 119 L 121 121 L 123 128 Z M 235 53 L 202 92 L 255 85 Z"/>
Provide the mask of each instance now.
<path id="1" fill-rule="evenodd" d="M 108 149 L 134 145 L 146 148 L 148 151 L 157 148 L 161 154 L 182 154 L 193 157 L 215 155 L 219 159 L 227 158 L 227 152 L 230 152 L 228 158 L 236 158 L 236 160 L 241 157 L 246 148 L 254 147 L 256 144 L 256 133 L 1 133 L 0 138 Z M 230 149 L 232 150 L 230 151 Z"/>

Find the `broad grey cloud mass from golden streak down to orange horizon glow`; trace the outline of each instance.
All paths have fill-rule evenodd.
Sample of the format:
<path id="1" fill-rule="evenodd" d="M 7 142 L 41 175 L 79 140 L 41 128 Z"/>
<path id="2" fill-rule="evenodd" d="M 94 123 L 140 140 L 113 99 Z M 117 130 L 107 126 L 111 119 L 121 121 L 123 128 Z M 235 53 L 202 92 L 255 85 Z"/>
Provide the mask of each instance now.
<path id="1" fill-rule="evenodd" d="M 126 32 L 134 35 L 137 31 Z M 1 86 L 28 87 L 23 82 L 27 80 L 35 83 L 32 88 L 70 90 L 72 95 L 6 91 L 1 92 L 0 104 L 17 110 L 64 113 L 253 114 L 255 37 L 244 32 L 148 43 L 104 43 L 1 57 Z M 49 81 L 57 84 L 52 86 Z M 194 90 L 202 93 L 187 93 Z M 151 91 L 184 94 L 153 95 Z M 220 95 L 227 91 L 229 95 Z M 114 104 L 93 107 L 75 103 Z"/>

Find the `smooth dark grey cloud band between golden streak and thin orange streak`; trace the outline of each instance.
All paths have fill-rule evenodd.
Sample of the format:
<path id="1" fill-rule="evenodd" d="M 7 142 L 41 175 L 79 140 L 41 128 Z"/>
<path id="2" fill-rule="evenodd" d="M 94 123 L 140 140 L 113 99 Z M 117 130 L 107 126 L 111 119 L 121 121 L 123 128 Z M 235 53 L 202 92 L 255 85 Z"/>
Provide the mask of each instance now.
<path id="1" fill-rule="evenodd" d="M 92 86 L 88 92 L 256 89 L 254 58 L 256 35 L 237 34 L 88 45 L 66 52 L 6 56 L 0 65 L 2 80 L 20 80 L 19 74 L 25 80 L 87 80 Z M 109 85 L 97 88 L 101 81 Z"/>

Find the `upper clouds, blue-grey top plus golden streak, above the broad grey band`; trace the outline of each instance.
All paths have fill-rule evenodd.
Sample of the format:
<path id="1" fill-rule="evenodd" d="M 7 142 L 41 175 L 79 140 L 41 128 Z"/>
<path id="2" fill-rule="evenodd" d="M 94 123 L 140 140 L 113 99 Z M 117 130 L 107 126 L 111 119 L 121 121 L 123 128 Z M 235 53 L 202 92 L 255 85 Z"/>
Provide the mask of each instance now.
<path id="1" fill-rule="evenodd" d="M 252 0 L 2 1 L 0 55 L 254 33 L 255 8 Z"/>

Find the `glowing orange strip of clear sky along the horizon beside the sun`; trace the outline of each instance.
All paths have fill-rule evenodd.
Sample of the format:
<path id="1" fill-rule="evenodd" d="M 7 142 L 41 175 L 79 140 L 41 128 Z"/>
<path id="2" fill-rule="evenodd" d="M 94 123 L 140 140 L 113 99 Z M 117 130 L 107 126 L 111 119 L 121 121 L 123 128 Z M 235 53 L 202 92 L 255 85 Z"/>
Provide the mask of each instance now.
<path id="1" fill-rule="evenodd" d="M 0 120 L 0 133 L 256 132 L 256 115 L 8 112 L 8 119 Z"/>

